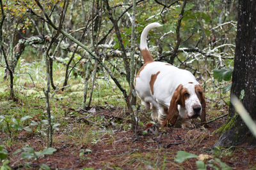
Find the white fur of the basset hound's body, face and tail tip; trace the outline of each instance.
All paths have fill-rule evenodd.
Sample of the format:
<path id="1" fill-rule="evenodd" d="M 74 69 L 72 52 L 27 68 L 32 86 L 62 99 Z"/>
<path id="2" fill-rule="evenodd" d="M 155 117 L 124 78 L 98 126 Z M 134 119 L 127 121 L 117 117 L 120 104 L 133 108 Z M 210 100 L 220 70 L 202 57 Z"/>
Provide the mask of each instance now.
<path id="1" fill-rule="evenodd" d="M 141 34 L 141 50 L 148 50 L 148 31 L 159 26 L 161 26 L 159 23 L 152 23 L 145 27 Z M 158 72 L 159 74 L 157 74 Z M 150 90 L 150 80 L 153 74 L 157 74 L 153 88 L 154 94 Z M 145 64 L 145 67 L 140 71 L 140 74 L 137 74 L 135 79 L 135 89 L 141 99 L 141 103 L 147 109 L 152 110 L 152 119 L 154 121 L 158 120 L 160 123 L 163 123 L 167 110 L 170 107 L 173 93 L 179 85 L 183 85 L 184 88 L 188 89 L 190 94 L 189 98 L 185 101 L 185 107 L 178 106 L 179 117 L 189 119 L 195 115 L 193 106 L 201 106 L 195 92 L 195 85 L 199 85 L 199 83 L 192 73 L 164 62 L 150 62 Z"/>

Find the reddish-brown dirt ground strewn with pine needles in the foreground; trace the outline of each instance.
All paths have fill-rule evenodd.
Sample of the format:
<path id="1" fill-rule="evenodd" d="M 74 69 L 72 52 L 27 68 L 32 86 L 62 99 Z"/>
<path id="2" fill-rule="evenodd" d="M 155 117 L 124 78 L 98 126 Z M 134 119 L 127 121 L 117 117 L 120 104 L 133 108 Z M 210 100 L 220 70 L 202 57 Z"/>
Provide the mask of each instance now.
<path id="1" fill-rule="evenodd" d="M 124 117 L 120 114 L 120 110 L 101 110 L 95 114 L 105 115 L 105 118 L 115 117 L 118 119 L 120 117 L 121 121 Z M 209 118 L 207 119 L 209 120 Z M 197 169 L 197 159 L 188 159 L 182 164 L 175 162 L 175 155 L 182 150 L 196 155 L 204 154 L 204 162 L 209 164 L 213 161 L 211 164 L 216 167 L 221 167 L 220 163 L 213 160 L 217 157 L 232 169 L 256 169 L 255 147 L 239 146 L 215 148 L 214 150 L 213 145 L 219 135 L 212 134 L 212 132 L 225 122 L 225 117 L 210 123 L 209 129 L 200 127 L 198 125 L 200 122 L 196 121 L 196 129 L 161 128 L 159 125 L 152 125 L 148 128 L 147 125 L 144 125 L 144 127 L 140 127 L 138 139 L 136 139 L 131 130 L 124 130 L 115 125 L 115 120 L 112 120 L 107 125 L 112 132 L 103 134 L 97 143 L 86 143 L 85 141 L 77 143 L 74 137 L 67 138 L 68 131 L 70 132 L 72 129 L 66 132 L 58 131 L 54 134 L 52 146 L 57 151 L 41 159 L 29 161 L 20 159 L 20 154 L 13 156 L 12 153 L 24 146 L 42 150 L 46 144 L 40 136 L 28 136 L 26 132 L 22 132 L 18 137 L 19 143 L 6 148 L 10 153 L 9 166 L 13 169 L 19 169 L 19 167 L 24 169 L 25 162 L 29 162 L 30 169 L 39 169 L 38 165 L 42 163 L 51 169 L 85 169 L 86 167 L 94 169 Z M 69 124 L 71 127 L 76 127 L 78 124 L 88 124 L 88 122 L 76 121 L 74 123 L 69 119 Z M 83 131 L 89 131 L 89 127 L 90 125 L 84 126 Z M 141 132 L 143 130 L 144 133 Z M 1 138 L 5 137 L 4 134 L 1 134 Z M 83 137 L 80 136 L 80 138 Z M 207 169 L 213 168 L 207 166 Z"/>

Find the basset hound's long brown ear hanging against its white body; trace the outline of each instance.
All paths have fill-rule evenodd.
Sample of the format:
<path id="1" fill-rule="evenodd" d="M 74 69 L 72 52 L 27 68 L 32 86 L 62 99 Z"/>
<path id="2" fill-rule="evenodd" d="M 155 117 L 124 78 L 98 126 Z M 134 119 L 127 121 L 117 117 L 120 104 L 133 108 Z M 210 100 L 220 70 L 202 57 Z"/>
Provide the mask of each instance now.
<path id="1" fill-rule="evenodd" d="M 181 104 L 181 98 L 182 98 L 182 91 L 183 86 L 179 85 L 176 89 L 175 92 L 172 96 L 172 100 L 170 103 L 170 107 L 167 111 L 167 117 L 165 118 L 162 126 L 164 127 L 167 125 L 169 122 L 171 125 L 174 125 L 178 116 L 179 116 L 179 110 L 178 110 L 178 104 Z"/>

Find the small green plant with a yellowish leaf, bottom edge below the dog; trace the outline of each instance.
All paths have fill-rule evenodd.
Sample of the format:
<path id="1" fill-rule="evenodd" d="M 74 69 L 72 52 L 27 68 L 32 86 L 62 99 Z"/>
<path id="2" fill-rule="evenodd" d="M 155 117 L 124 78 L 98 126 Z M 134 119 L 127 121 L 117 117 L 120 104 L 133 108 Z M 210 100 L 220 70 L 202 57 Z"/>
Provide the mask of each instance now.
<path id="1" fill-rule="evenodd" d="M 191 159 L 191 158 L 196 158 L 198 160 L 196 160 L 196 166 L 198 168 L 198 170 L 206 170 L 206 167 L 214 167 L 215 169 L 225 169 L 225 170 L 231 170 L 232 168 L 229 167 L 227 164 L 225 164 L 224 162 L 221 162 L 220 159 L 218 158 L 212 158 L 209 155 L 195 155 L 193 153 L 188 153 L 188 152 L 184 152 L 184 151 L 178 151 L 175 161 L 182 163 L 184 162 L 184 160 L 186 159 Z M 206 159 L 210 159 L 207 161 L 207 163 L 205 164 L 204 160 Z"/>

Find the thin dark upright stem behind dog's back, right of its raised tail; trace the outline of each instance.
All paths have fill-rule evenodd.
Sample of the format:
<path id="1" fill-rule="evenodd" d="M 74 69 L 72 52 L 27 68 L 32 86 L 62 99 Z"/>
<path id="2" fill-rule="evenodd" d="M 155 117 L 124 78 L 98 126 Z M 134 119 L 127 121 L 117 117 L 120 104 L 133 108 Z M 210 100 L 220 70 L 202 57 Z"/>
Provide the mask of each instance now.
<path id="1" fill-rule="evenodd" d="M 184 0 L 184 3 L 182 5 L 182 9 L 180 11 L 179 20 L 178 20 L 178 24 L 177 24 L 177 27 L 176 27 L 177 43 L 176 43 L 176 46 L 174 47 L 173 53 L 172 53 L 172 55 L 170 57 L 170 64 L 173 64 L 173 61 L 174 61 L 174 59 L 176 57 L 176 53 L 177 53 L 177 51 L 179 49 L 179 46 L 180 46 L 180 42 L 181 42 L 181 38 L 180 38 L 180 25 L 181 25 L 181 20 L 183 18 L 184 9 L 186 7 L 186 3 L 187 3 L 187 1 Z"/>

